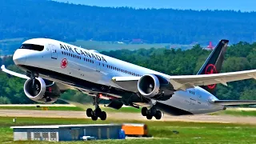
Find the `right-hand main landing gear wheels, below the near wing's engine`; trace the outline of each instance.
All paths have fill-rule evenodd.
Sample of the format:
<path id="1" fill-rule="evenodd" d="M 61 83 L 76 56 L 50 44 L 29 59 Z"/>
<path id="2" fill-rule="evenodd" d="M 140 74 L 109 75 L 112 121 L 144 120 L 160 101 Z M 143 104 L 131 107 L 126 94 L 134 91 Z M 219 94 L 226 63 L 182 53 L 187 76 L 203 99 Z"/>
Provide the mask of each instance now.
<path id="1" fill-rule="evenodd" d="M 160 110 L 157 110 L 154 106 L 148 110 L 146 107 L 142 107 L 142 115 L 146 116 L 147 119 L 152 119 L 153 117 L 156 119 L 162 118 L 162 113 Z"/>

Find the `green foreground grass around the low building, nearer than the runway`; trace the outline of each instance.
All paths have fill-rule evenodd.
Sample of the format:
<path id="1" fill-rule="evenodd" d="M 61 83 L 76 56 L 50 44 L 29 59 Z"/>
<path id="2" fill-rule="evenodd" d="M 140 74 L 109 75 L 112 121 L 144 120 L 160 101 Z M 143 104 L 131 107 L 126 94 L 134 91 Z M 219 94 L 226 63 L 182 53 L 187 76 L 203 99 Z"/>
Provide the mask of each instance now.
<path id="1" fill-rule="evenodd" d="M 94 142 L 61 142 L 61 143 L 254 143 L 256 142 L 256 126 L 202 123 L 202 122 L 142 122 L 146 123 L 154 138 L 101 140 Z M 90 119 L 76 118 L 17 118 L 14 124 L 12 118 L 0 117 L 0 143 L 55 143 L 55 142 L 12 142 L 13 132 L 10 126 L 52 125 L 52 124 L 86 124 L 103 123 L 92 122 Z M 107 120 L 104 123 L 123 123 L 117 120 Z M 177 130 L 179 134 L 173 131 Z"/>

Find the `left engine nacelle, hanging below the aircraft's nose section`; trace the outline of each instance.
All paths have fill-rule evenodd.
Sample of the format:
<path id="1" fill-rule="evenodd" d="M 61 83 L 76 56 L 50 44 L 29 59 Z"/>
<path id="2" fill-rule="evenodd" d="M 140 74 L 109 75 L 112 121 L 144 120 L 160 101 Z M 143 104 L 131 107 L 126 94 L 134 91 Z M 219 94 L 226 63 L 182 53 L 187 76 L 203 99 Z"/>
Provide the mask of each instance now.
<path id="1" fill-rule="evenodd" d="M 60 90 L 54 82 L 42 78 L 27 79 L 24 84 L 24 93 L 35 102 L 53 103 L 60 97 Z"/>

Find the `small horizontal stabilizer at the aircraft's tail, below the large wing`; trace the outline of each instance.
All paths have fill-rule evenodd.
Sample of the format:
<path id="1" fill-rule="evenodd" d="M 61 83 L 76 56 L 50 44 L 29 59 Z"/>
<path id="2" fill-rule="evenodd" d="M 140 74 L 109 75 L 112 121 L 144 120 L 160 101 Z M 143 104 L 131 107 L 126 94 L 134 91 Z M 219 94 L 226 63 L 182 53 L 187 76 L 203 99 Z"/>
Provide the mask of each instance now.
<path id="1" fill-rule="evenodd" d="M 214 100 L 212 102 L 214 102 L 217 105 L 223 106 L 256 104 L 256 101 L 254 100 Z"/>

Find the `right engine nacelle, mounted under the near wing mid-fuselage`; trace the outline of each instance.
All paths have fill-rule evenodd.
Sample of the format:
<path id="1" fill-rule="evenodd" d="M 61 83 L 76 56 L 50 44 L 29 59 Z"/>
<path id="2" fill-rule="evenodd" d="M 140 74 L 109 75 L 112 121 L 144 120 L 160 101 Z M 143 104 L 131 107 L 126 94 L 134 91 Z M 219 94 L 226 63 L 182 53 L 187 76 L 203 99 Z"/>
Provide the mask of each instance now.
<path id="1" fill-rule="evenodd" d="M 138 80 L 138 92 L 146 98 L 166 101 L 174 94 L 174 87 L 160 75 L 145 74 Z"/>

